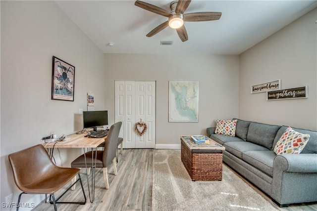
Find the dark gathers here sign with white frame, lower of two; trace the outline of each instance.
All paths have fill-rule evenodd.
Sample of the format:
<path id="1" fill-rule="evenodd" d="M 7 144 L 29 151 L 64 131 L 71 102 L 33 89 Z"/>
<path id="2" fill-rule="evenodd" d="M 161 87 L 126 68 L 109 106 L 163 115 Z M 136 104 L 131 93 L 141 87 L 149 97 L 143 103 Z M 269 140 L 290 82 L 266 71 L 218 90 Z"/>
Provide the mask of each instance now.
<path id="1" fill-rule="evenodd" d="M 266 100 L 283 100 L 298 98 L 308 98 L 307 86 L 266 92 Z"/>

